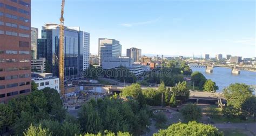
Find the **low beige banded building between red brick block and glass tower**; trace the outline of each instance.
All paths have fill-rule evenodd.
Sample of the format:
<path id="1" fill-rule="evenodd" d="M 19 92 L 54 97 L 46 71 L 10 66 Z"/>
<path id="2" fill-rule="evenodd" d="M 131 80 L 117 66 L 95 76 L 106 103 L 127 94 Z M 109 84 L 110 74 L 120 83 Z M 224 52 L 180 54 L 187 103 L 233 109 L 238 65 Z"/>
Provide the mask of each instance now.
<path id="1" fill-rule="evenodd" d="M 45 58 L 31 59 L 32 72 L 45 72 Z"/>

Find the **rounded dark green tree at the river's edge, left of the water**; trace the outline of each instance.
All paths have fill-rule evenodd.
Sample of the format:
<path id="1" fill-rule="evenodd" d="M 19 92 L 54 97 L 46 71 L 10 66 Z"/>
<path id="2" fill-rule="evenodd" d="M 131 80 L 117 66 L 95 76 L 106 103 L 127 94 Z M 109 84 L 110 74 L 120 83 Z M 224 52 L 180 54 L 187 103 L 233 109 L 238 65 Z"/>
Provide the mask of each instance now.
<path id="1" fill-rule="evenodd" d="M 194 86 L 199 87 L 199 89 L 203 89 L 206 78 L 202 73 L 196 71 L 191 74 L 191 81 L 194 83 Z"/>

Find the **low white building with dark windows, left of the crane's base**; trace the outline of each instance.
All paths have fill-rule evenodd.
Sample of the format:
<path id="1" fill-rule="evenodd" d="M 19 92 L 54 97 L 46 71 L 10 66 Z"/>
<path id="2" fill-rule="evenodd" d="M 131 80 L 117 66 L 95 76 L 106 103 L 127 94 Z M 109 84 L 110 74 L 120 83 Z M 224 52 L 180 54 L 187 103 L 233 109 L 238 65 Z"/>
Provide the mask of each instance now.
<path id="1" fill-rule="evenodd" d="M 55 89 L 60 93 L 59 90 L 59 78 L 52 77 L 52 73 L 32 73 L 32 80 L 37 84 L 37 89 L 42 90 L 45 87 Z"/>

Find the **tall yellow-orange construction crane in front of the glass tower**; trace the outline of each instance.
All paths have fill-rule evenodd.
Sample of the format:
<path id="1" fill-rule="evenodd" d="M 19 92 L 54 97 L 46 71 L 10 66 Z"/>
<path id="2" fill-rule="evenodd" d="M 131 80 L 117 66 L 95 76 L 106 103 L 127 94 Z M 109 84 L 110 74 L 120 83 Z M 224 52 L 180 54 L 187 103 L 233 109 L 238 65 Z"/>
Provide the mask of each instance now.
<path id="1" fill-rule="evenodd" d="M 62 0 L 62 11 L 60 15 L 59 24 L 59 86 L 62 97 L 65 97 L 64 89 L 64 5 L 65 0 Z"/>

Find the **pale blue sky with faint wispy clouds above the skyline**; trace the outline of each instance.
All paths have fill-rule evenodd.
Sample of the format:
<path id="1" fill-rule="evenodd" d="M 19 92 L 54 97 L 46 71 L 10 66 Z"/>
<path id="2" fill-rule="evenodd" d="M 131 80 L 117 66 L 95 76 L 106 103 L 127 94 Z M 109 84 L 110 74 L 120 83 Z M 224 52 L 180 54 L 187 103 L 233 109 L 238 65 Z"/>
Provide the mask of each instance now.
<path id="1" fill-rule="evenodd" d="M 32 0 L 31 26 L 59 23 L 61 0 Z M 256 57 L 255 1 L 66 0 L 65 25 L 113 38 L 143 54 Z M 40 38 L 40 37 L 39 37 Z"/>

